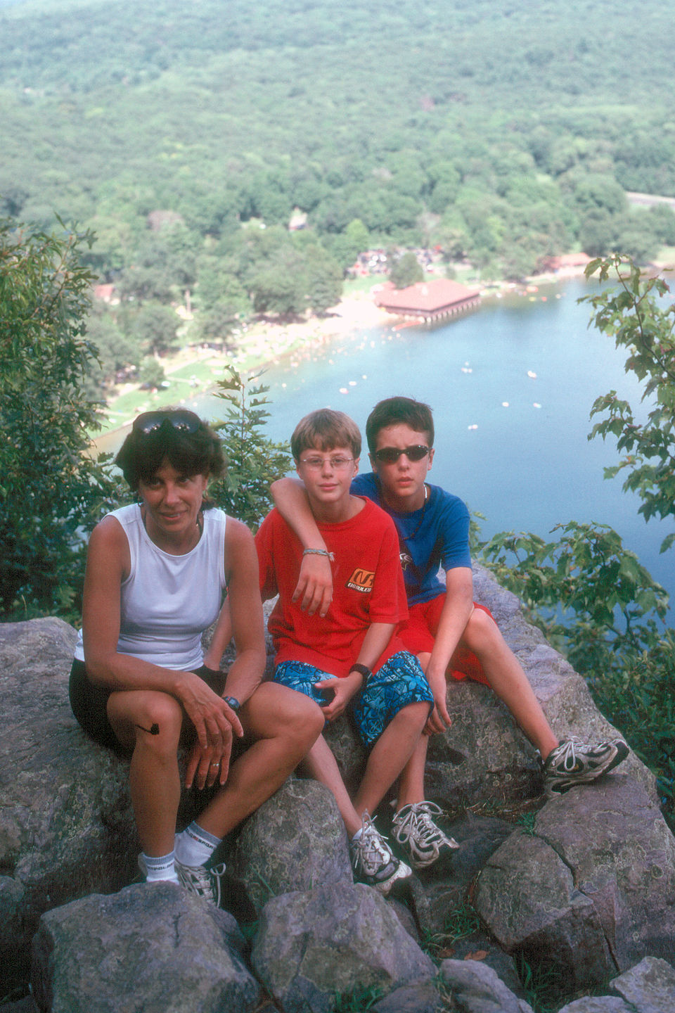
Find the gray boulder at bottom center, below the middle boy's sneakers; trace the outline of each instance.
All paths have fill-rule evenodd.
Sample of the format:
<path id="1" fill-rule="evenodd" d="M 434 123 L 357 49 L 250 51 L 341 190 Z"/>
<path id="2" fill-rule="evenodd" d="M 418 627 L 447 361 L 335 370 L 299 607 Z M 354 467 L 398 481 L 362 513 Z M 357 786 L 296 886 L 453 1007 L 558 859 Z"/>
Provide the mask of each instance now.
<path id="1" fill-rule="evenodd" d="M 347 882 L 269 901 L 252 962 L 284 1013 L 330 1013 L 336 993 L 392 992 L 436 972 L 379 893 Z"/>

